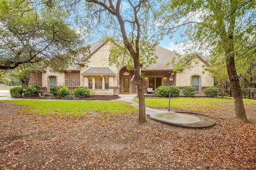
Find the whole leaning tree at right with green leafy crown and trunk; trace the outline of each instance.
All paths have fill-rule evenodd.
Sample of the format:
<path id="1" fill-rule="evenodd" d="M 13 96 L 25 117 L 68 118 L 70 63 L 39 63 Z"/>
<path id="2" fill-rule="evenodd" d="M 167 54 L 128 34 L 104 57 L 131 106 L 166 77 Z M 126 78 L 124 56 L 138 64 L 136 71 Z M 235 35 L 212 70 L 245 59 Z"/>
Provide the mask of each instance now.
<path id="1" fill-rule="evenodd" d="M 166 14 L 162 27 L 164 33 L 183 26 L 190 41 L 211 49 L 211 57 L 224 56 L 235 100 L 236 118 L 246 122 L 235 58 L 247 57 L 247 52 L 255 53 L 256 46 L 251 44 L 255 39 L 255 1 L 174 0 L 169 1 L 163 10 Z M 170 26 L 170 21 L 176 21 L 176 25 Z M 238 43 L 247 48 L 236 50 Z"/>

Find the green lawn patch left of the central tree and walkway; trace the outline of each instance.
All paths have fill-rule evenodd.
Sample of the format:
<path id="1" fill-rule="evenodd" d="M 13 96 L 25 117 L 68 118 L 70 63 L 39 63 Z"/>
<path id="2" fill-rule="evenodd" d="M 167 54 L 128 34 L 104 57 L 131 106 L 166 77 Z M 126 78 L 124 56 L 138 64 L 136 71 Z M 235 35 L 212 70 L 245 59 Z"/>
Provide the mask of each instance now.
<path id="1" fill-rule="evenodd" d="M 3 102 L 2 100 L 1 102 Z M 5 100 L 6 101 L 6 100 Z M 133 114 L 138 109 L 128 104 L 113 101 L 37 101 L 37 100 L 9 100 L 14 105 L 25 107 L 23 113 L 39 115 L 83 116 L 92 111 L 101 114 Z"/>

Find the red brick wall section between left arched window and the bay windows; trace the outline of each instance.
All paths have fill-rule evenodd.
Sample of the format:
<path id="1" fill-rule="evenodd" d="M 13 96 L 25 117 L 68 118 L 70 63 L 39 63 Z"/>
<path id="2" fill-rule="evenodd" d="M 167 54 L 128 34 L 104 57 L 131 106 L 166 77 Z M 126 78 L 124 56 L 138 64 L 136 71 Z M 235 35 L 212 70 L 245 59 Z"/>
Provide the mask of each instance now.
<path id="1" fill-rule="evenodd" d="M 80 72 L 66 72 L 65 86 L 79 87 L 80 86 Z"/>

